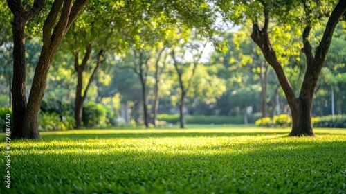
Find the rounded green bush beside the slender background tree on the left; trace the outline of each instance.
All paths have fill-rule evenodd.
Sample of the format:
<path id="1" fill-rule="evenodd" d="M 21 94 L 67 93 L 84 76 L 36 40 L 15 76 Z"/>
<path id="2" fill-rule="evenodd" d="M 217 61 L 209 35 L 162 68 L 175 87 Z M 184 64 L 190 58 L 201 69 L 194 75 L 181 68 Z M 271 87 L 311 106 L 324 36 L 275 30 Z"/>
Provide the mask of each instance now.
<path id="1" fill-rule="evenodd" d="M 84 105 L 82 122 L 84 127 L 111 127 L 116 125 L 114 113 L 111 109 L 94 102 Z"/>

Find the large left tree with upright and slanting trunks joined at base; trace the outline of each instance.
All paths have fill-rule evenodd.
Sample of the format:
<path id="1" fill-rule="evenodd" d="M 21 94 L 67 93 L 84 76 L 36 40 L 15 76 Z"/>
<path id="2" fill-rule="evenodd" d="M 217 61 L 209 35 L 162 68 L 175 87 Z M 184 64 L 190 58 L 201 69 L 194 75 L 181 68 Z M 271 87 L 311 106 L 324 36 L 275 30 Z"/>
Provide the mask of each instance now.
<path id="1" fill-rule="evenodd" d="M 8 7 L 14 15 L 13 35 L 13 82 L 12 103 L 13 139 L 39 139 L 39 106 L 44 96 L 46 76 L 57 48 L 66 35 L 73 21 L 77 18 L 88 0 L 55 0 L 42 27 L 42 51 L 35 69 L 33 85 L 26 103 L 26 60 L 25 60 L 25 26 L 26 23 L 44 8 L 46 1 L 35 0 L 33 7 L 25 10 L 21 1 L 8 0 Z M 59 17 L 60 16 L 60 17 Z"/>

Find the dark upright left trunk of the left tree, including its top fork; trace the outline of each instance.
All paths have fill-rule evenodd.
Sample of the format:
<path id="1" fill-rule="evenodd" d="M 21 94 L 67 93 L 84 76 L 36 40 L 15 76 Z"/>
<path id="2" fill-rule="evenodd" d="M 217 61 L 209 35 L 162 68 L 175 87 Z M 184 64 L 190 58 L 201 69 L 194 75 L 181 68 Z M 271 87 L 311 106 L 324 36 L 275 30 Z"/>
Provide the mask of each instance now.
<path id="1" fill-rule="evenodd" d="M 26 114 L 26 59 L 25 59 L 25 25 L 44 7 L 45 1 L 35 0 L 30 10 L 24 10 L 21 1 L 7 0 L 14 19 L 12 21 L 13 35 L 13 81 L 12 81 L 12 139 L 39 138 L 37 132 L 28 132 L 24 124 Z M 33 134 L 31 136 L 30 134 Z"/>

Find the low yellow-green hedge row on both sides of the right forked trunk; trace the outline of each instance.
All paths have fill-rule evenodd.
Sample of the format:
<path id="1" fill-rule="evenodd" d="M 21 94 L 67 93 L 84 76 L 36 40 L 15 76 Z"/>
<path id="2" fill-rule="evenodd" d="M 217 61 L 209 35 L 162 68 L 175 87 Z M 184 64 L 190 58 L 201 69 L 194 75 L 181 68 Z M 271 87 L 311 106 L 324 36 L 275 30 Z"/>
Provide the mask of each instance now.
<path id="1" fill-rule="evenodd" d="M 346 128 L 346 115 L 313 117 L 311 121 L 313 127 Z M 282 114 L 274 118 L 260 118 L 255 124 L 260 127 L 291 127 L 292 118 Z"/>

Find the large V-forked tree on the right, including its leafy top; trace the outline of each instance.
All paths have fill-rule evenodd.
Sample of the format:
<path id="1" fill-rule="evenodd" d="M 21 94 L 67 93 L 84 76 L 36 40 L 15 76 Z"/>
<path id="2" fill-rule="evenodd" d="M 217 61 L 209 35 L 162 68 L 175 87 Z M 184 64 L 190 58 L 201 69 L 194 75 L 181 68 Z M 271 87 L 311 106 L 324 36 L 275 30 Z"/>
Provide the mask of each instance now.
<path id="1" fill-rule="evenodd" d="M 293 119 L 293 127 L 290 136 L 314 136 L 311 123 L 313 93 L 328 53 L 331 37 L 334 33 L 336 24 L 338 24 L 338 21 L 340 21 L 340 18 L 343 17 L 346 11 L 345 0 L 338 1 L 332 12 L 325 12 L 325 10 L 329 10 L 334 3 L 329 1 L 325 1 L 324 3 L 325 4 L 322 6 L 320 2 L 315 1 L 255 1 L 250 3 L 246 8 L 244 8 L 244 5 L 240 5 L 244 8 L 244 13 L 253 22 L 251 38 L 260 46 L 264 58 L 266 58 L 268 64 L 275 70 L 286 96 L 286 100 L 289 103 Z M 242 1 L 237 1 L 237 3 L 234 4 L 239 6 L 239 4 L 242 4 Z M 303 11 L 301 11 L 301 7 Z M 300 15 L 301 12 L 304 14 Z M 320 43 L 316 47 L 315 54 L 313 55 L 313 47 L 309 40 L 311 29 L 329 13 L 330 16 L 325 26 L 322 39 L 320 39 Z M 261 23 L 259 20 L 261 17 L 264 18 L 262 27 L 260 27 Z M 282 62 L 278 59 L 277 53 L 271 44 L 270 32 L 268 31 L 271 18 L 276 18 L 286 24 L 291 22 L 291 24 L 296 24 L 297 26 L 303 25 L 302 53 L 304 53 L 307 58 L 307 69 L 298 97 L 295 96 L 291 83 L 282 68 Z M 300 23 L 295 21 L 300 21 Z"/>

